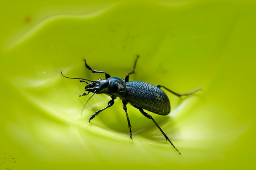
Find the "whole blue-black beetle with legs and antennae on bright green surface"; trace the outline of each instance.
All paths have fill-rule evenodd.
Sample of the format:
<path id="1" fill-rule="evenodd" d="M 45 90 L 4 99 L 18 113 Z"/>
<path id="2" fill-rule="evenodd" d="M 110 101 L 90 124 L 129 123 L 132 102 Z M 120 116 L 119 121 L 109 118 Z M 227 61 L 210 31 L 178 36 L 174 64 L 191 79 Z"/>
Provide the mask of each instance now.
<path id="1" fill-rule="evenodd" d="M 199 90 L 202 90 L 202 89 L 199 88 L 198 90 L 195 90 L 193 92 L 186 93 L 186 94 L 178 94 L 162 85 L 155 86 L 155 85 L 147 83 L 147 82 L 129 81 L 129 75 L 134 74 L 134 70 L 135 70 L 138 58 L 139 58 L 139 55 L 137 56 L 137 58 L 135 60 L 133 70 L 131 72 L 129 72 L 128 74 L 126 74 L 125 79 L 122 79 L 120 77 L 111 77 L 110 74 L 108 74 L 107 72 L 94 70 L 86 63 L 85 59 L 83 60 L 85 63 L 85 66 L 88 70 L 90 70 L 92 73 L 104 73 L 106 78 L 104 80 L 98 79 L 96 81 L 88 80 L 85 78 L 72 78 L 72 79 L 79 79 L 80 82 L 86 82 L 86 84 L 87 84 L 85 86 L 85 91 L 87 91 L 87 93 L 84 93 L 79 96 L 80 97 L 86 96 L 90 92 L 92 92 L 93 93 L 92 96 L 94 96 L 94 94 L 106 94 L 111 97 L 111 100 L 108 102 L 108 106 L 94 112 L 94 114 L 92 114 L 89 117 L 89 122 L 100 112 L 113 106 L 114 100 L 117 97 L 119 97 L 122 100 L 123 109 L 126 113 L 126 118 L 128 121 L 128 128 L 130 129 L 130 138 L 131 139 L 132 139 L 132 129 L 131 129 L 132 126 L 130 123 L 130 119 L 129 119 L 129 116 L 127 113 L 127 107 L 126 107 L 126 105 L 128 103 L 130 105 L 134 106 L 135 108 L 139 109 L 139 111 L 140 111 L 140 113 L 142 113 L 142 115 L 144 115 L 148 119 L 151 119 L 156 124 L 156 126 L 161 131 L 161 133 L 164 135 L 166 141 L 169 141 L 170 144 L 174 147 L 174 149 L 176 149 L 176 151 L 180 154 L 180 151 L 173 145 L 173 143 L 170 141 L 169 137 L 164 133 L 164 131 L 156 123 L 156 121 L 153 119 L 153 117 L 150 114 L 146 113 L 144 111 L 144 109 L 147 111 L 156 113 L 158 115 L 168 115 L 170 113 L 171 107 L 170 107 L 169 98 L 161 88 L 168 90 L 169 92 L 173 93 L 174 95 L 176 95 L 178 97 L 188 96 L 188 95 L 194 94 L 195 92 L 198 92 Z M 62 74 L 62 72 L 61 72 L 61 74 Z M 64 76 L 64 75 L 62 74 L 62 76 Z M 66 77 L 66 76 L 64 76 L 64 77 L 71 78 L 71 77 Z M 87 81 L 91 82 L 91 83 L 89 84 Z M 90 98 L 92 98 L 92 96 Z M 84 107 L 87 104 L 87 102 L 90 100 L 90 98 L 86 101 L 86 103 L 84 104 Z M 84 107 L 83 107 L 83 109 L 84 109 Z"/>

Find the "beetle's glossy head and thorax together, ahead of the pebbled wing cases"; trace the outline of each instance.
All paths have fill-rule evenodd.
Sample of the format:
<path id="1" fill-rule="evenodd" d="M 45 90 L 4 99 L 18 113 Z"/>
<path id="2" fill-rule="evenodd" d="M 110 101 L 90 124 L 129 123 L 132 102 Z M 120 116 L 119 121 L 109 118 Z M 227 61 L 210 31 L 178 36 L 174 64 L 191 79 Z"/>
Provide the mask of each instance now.
<path id="1" fill-rule="evenodd" d="M 107 94 L 109 96 L 124 96 L 125 89 L 125 81 L 120 77 L 110 77 L 104 80 L 99 79 L 85 86 L 85 90 L 88 92 Z"/>

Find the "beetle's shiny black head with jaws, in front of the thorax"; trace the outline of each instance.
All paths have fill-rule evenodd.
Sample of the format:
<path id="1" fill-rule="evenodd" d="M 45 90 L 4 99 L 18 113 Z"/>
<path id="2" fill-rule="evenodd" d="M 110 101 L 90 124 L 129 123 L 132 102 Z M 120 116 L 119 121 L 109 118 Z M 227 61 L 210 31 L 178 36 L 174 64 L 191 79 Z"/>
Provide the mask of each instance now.
<path id="1" fill-rule="evenodd" d="M 109 86 L 108 79 L 104 79 L 104 80 L 99 79 L 85 86 L 85 91 L 94 93 L 96 90 L 95 92 L 96 94 L 102 94 L 106 92 L 106 90 L 108 89 L 108 86 Z"/>

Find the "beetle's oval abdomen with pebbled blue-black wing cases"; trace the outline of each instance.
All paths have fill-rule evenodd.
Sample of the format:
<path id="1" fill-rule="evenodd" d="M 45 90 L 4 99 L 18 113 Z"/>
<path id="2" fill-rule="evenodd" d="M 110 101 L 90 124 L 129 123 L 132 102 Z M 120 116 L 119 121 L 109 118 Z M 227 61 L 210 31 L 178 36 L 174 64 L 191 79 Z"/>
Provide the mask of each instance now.
<path id="1" fill-rule="evenodd" d="M 134 106 L 159 115 L 167 115 L 171 111 L 170 101 L 165 92 L 146 82 L 126 82 L 124 98 Z"/>

